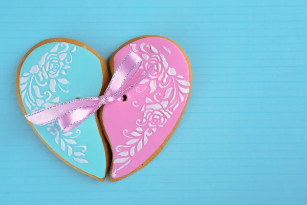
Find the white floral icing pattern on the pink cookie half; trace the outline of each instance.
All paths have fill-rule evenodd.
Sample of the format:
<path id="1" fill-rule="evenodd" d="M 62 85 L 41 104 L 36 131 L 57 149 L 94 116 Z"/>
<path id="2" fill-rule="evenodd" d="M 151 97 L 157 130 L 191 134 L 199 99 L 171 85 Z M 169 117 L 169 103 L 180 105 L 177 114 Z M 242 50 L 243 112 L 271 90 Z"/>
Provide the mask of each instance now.
<path id="1" fill-rule="evenodd" d="M 130 46 L 134 52 L 138 52 L 136 44 L 130 44 Z M 129 132 L 127 129 L 122 131 L 123 135 L 127 137 L 127 141 L 124 145 L 116 146 L 117 155 L 114 156 L 113 163 L 121 163 L 122 165 L 112 172 L 113 177 L 116 177 L 116 172 L 128 165 L 131 158 L 142 150 L 148 143 L 148 137 L 167 123 L 178 106 L 183 103 L 185 95 L 189 93 L 189 82 L 183 76 L 177 75 L 175 68 L 169 67 L 167 57 L 159 53 L 152 45 L 142 43 L 139 49 L 141 52 L 139 55 L 146 62 L 143 64 L 144 67 L 141 66 L 140 69 L 147 70 L 154 66 L 155 70 L 141 81 L 136 87 L 136 92 L 142 93 L 149 89 L 149 94 L 152 97 L 146 97 L 141 105 L 137 101 L 132 103 L 134 107 L 140 107 L 143 118 L 136 120 L 134 131 Z M 171 55 L 171 51 L 165 46 L 161 49 Z M 160 88 L 160 92 L 157 92 L 157 87 Z"/>

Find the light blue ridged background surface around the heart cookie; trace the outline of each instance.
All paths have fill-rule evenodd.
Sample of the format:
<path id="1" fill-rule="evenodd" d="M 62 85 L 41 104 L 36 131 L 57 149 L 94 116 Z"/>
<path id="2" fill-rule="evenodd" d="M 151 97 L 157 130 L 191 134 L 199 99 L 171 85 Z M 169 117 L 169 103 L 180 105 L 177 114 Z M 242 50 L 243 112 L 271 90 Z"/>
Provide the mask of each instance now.
<path id="1" fill-rule="evenodd" d="M 0 204 L 307 204 L 305 1 L 0 1 Z M 104 58 L 167 36 L 190 58 L 191 97 L 165 149 L 119 182 L 53 155 L 23 117 L 19 61 L 70 37 Z"/>

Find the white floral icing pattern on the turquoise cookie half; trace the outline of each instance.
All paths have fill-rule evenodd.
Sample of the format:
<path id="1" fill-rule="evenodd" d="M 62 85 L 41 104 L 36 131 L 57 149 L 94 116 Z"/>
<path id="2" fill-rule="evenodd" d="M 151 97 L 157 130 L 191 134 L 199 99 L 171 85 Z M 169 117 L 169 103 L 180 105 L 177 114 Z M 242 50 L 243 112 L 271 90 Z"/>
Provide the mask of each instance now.
<path id="1" fill-rule="evenodd" d="M 57 43 L 49 52 L 44 53 L 37 65 L 33 65 L 29 72 L 24 72 L 19 78 L 21 99 L 25 102 L 31 113 L 43 108 L 54 106 L 60 102 L 57 92 L 68 93 L 69 81 L 65 78 L 65 70 L 70 69 L 72 53 L 76 46 L 69 50 L 67 43 Z M 42 88 L 43 93 L 40 91 Z M 86 146 L 78 145 L 76 138 L 81 134 L 78 129 L 75 133 L 61 132 L 56 122 L 46 125 L 47 130 L 55 136 L 54 141 L 62 151 L 79 163 L 88 163 L 85 157 Z"/>

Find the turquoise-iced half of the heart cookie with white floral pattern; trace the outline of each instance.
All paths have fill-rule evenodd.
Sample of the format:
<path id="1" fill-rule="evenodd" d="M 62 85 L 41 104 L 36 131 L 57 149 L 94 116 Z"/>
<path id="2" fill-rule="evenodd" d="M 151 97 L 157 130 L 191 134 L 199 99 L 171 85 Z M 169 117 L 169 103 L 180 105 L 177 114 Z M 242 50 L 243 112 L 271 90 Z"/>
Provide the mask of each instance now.
<path id="1" fill-rule="evenodd" d="M 72 99 L 99 96 L 108 83 L 106 61 L 91 47 L 68 38 L 35 45 L 21 60 L 16 77 L 17 97 L 25 115 Z M 43 126 L 29 123 L 62 161 L 104 180 L 109 154 L 97 113 L 70 132 L 62 132 L 56 121 Z"/>

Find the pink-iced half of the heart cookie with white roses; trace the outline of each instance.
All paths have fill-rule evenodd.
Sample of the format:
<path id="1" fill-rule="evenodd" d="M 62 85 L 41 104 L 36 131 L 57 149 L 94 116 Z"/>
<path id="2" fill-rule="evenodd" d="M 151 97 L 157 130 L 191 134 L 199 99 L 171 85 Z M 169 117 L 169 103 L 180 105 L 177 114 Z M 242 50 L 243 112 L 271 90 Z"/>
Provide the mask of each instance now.
<path id="1" fill-rule="evenodd" d="M 155 70 L 126 94 L 126 101 L 100 110 L 113 153 L 111 181 L 137 172 L 159 154 L 178 126 L 191 90 L 189 59 L 172 40 L 162 36 L 129 40 L 111 57 L 112 73 L 130 51 L 143 59 L 138 72 L 152 66 Z"/>

